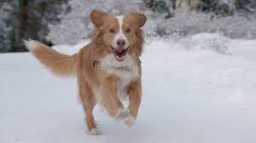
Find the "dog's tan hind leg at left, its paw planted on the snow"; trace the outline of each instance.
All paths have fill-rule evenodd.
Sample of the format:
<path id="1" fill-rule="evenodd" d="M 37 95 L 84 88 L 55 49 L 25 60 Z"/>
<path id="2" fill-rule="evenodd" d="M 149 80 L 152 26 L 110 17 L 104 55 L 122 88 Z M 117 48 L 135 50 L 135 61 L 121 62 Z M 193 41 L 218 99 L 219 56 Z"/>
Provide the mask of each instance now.
<path id="1" fill-rule="evenodd" d="M 82 100 L 84 112 L 85 112 L 85 123 L 87 128 L 92 135 L 99 135 L 102 132 L 97 129 L 96 123 L 93 117 L 93 108 L 96 104 L 96 99 L 92 92 L 92 89 L 86 82 L 79 82 L 79 96 Z"/>

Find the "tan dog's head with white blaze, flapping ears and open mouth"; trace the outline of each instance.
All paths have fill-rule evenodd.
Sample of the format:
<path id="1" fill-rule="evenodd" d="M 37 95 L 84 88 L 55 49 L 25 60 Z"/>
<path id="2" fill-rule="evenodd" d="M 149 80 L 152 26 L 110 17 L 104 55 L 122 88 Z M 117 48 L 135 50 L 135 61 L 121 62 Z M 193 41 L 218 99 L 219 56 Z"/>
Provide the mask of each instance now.
<path id="1" fill-rule="evenodd" d="M 101 39 L 107 45 L 109 52 L 113 53 L 118 61 L 125 60 L 125 54 L 141 54 L 143 46 L 144 26 L 147 18 L 144 14 L 131 13 L 122 16 L 113 16 L 108 13 L 93 10 L 90 19 Z"/>

